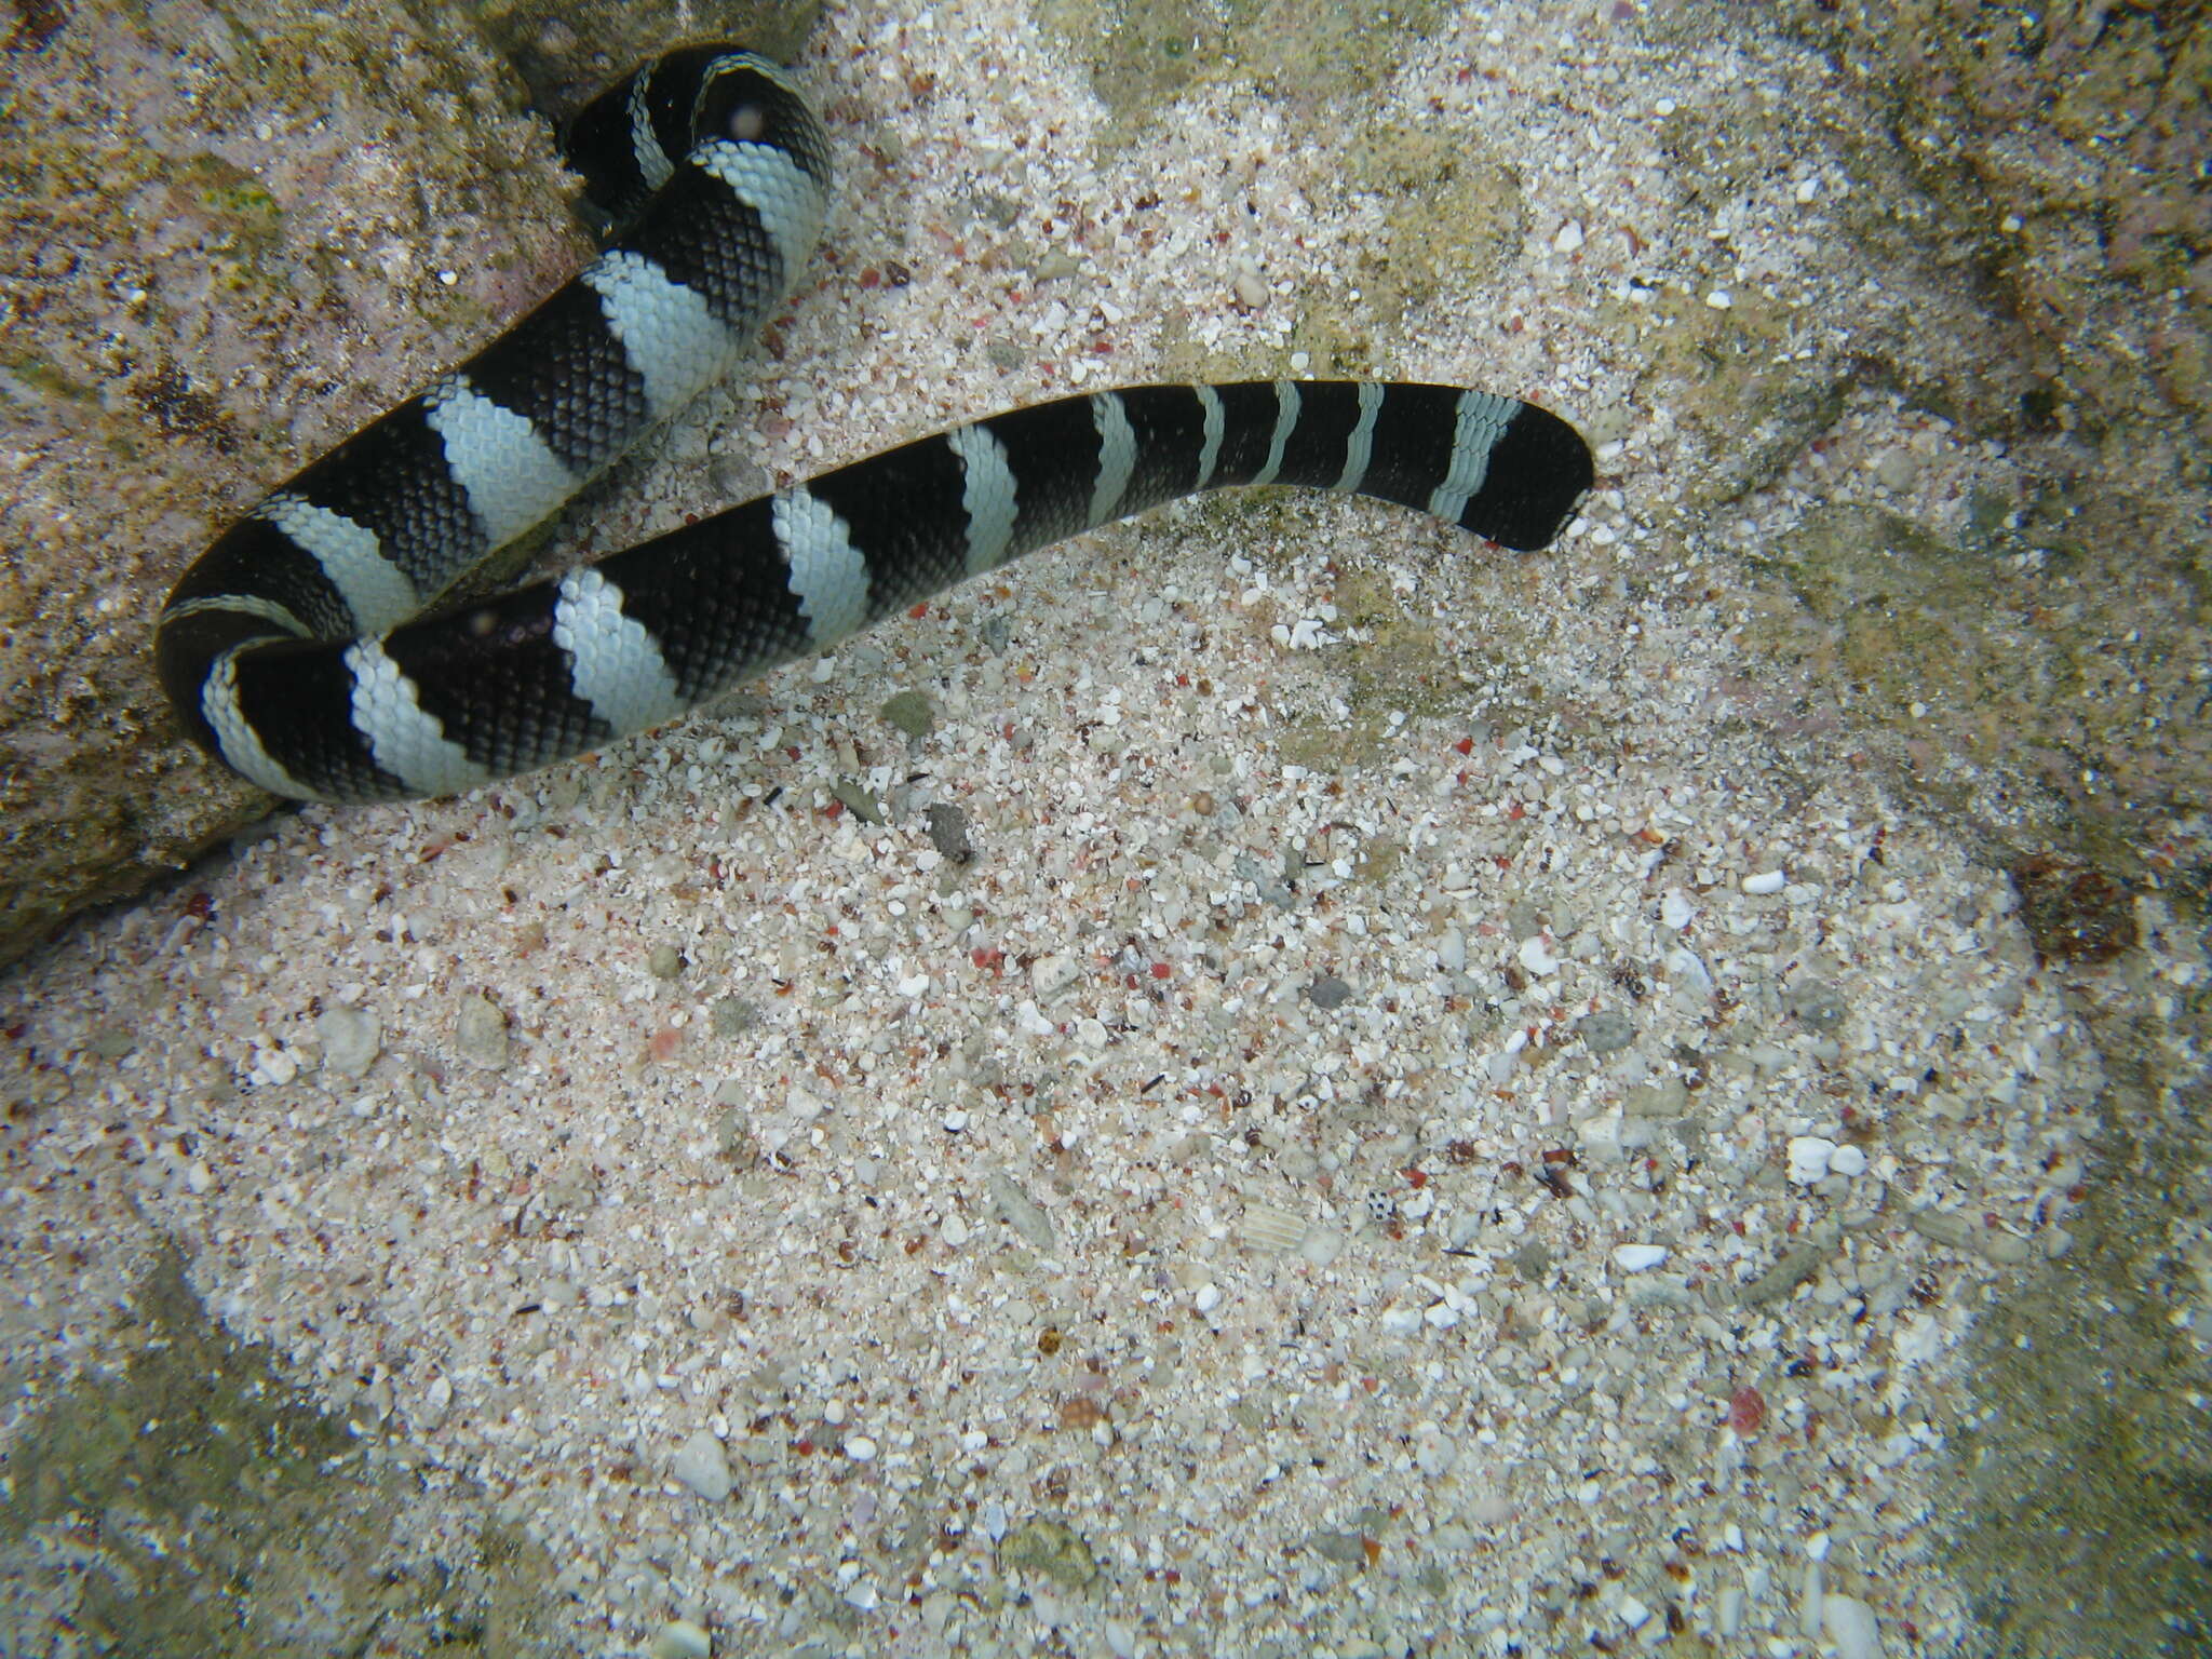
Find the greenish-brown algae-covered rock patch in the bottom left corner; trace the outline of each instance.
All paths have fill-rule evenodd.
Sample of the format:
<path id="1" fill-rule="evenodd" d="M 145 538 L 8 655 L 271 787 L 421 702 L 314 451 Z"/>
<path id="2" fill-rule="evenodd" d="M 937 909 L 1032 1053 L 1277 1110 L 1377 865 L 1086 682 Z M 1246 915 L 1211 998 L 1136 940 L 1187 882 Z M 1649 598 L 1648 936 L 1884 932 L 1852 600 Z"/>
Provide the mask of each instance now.
<path id="1" fill-rule="evenodd" d="M 164 1659 L 562 1650 L 544 1551 L 489 1520 L 449 1528 L 473 1533 L 460 1559 L 403 1544 L 427 1526 L 414 1478 L 369 1469 L 349 1425 L 208 1318 L 175 1256 L 108 1352 L 9 1451 L 18 1610 Z"/>

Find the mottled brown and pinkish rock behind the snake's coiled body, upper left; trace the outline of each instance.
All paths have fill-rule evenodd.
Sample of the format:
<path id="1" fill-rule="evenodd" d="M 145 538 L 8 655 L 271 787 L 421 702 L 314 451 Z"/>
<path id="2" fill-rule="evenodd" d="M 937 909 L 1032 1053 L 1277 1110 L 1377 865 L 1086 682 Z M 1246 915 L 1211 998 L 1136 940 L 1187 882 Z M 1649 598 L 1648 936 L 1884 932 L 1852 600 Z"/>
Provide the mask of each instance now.
<path id="1" fill-rule="evenodd" d="M 787 46 L 812 9 L 748 29 L 772 11 L 15 11 L 0 960 L 270 810 L 177 734 L 155 615 L 230 518 L 588 257 L 533 91 L 560 108 L 577 82 L 686 35 Z"/>

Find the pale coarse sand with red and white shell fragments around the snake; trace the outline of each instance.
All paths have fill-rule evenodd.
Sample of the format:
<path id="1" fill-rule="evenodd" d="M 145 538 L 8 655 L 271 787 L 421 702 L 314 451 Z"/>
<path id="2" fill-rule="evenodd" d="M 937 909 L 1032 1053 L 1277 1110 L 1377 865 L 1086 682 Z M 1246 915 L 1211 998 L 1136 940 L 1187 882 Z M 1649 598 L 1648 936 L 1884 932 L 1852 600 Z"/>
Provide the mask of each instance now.
<path id="1" fill-rule="evenodd" d="M 1469 9 L 1374 100 L 1110 126 L 1020 11 L 832 11 L 838 276 L 595 546 L 1347 332 L 1582 420 L 1599 491 L 1544 555 L 1170 509 L 86 920 L 4 989 L 51 1077 L 7 1431 L 173 1241 L 367 1467 L 544 1544 L 586 1652 L 1949 1650 L 1958 1343 L 2064 1250 L 2097 1066 L 2000 872 L 1743 717 L 1745 549 L 1670 515 L 1717 458 L 1617 319 L 1858 321 L 1840 175 L 1692 199 L 1657 142 L 1787 86 L 1743 53 Z M 1526 212 L 1374 316 L 1391 124 Z M 1869 392 L 1759 511 L 1944 524 L 2002 467 Z"/>

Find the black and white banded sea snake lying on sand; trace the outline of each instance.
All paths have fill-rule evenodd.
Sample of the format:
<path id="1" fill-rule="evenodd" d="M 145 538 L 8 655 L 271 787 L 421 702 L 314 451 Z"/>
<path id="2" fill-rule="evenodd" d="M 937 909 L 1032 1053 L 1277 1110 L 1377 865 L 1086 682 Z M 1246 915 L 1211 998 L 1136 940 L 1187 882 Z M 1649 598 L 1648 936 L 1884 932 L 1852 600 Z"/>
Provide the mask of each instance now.
<path id="1" fill-rule="evenodd" d="M 719 378 L 821 230 L 827 139 L 774 62 L 686 46 L 568 159 L 619 226 L 538 310 L 232 524 L 161 613 L 161 684 L 250 781 L 471 790 L 668 721 L 962 577 L 1179 495 L 1303 484 L 1537 549 L 1593 480 L 1568 422 L 1447 385 L 1141 385 L 887 449 L 560 580 L 453 604 Z"/>

